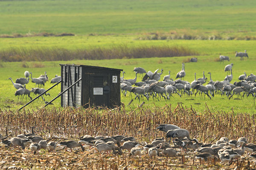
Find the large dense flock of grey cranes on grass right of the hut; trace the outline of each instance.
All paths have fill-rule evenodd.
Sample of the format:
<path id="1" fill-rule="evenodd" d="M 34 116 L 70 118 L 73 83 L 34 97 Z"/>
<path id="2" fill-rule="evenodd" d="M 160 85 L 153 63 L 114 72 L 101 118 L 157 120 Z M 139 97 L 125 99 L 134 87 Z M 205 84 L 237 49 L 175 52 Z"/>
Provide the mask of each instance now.
<path id="1" fill-rule="evenodd" d="M 181 71 L 176 75 L 176 80 L 170 77 L 171 71 L 169 71 L 169 74 L 164 76 L 163 80 L 160 81 L 163 69 L 161 69 L 160 73 L 158 73 L 159 69 L 153 73 L 151 71 L 145 71 L 144 68 L 137 67 L 134 68 L 136 73 L 134 79 L 125 79 L 125 71 L 123 71 L 122 77 L 120 78 L 120 87 L 124 96 L 126 96 L 128 91 L 130 92 L 130 96 L 131 93 L 134 93 L 136 95 L 135 99 L 139 100 L 144 96 L 147 99 L 152 96 L 153 99 L 159 100 L 159 97 L 170 99 L 173 97 L 172 94 L 177 94 L 181 97 L 183 94 L 187 94 L 188 96 L 195 94 L 196 96 L 198 93 L 201 97 L 204 95 L 204 98 L 205 96 L 208 96 L 209 99 L 214 97 L 217 93 L 226 95 L 229 99 L 232 98 L 234 94 L 236 94 L 239 99 L 241 93 L 243 93 L 243 96 L 246 95 L 248 97 L 251 94 L 256 98 L 256 75 L 250 74 L 247 76 L 244 72 L 244 74 L 238 77 L 238 81 L 232 84 L 230 83 L 233 80 L 232 68 L 233 63 L 225 66 L 224 71 L 227 72 L 227 76 L 222 81 L 213 81 L 212 74 L 210 72 L 208 73 L 210 78 L 208 81 L 205 73 L 203 72 L 203 77 L 196 79 L 195 73 L 195 80 L 188 82 L 184 80 L 184 77 L 186 76 L 184 63 L 182 63 Z M 137 74 L 143 73 L 145 73 L 145 76 L 142 81 L 137 82 Z M 208 84 L 204 85 L 207 81 Z"/>

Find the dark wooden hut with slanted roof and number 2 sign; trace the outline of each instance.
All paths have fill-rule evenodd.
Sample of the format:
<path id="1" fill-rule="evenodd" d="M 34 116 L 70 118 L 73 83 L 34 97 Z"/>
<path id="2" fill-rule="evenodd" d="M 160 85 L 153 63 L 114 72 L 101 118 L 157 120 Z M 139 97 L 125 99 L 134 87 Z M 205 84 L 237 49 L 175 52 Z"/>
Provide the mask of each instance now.
<path id="1" fill-rule="evenodd" d="M 90 65 L 60 64 L 61 106 L 102 106 L 115 108 L 121 105 L 121 69 Z M 76 82 L 76 84 L 74 84 Z M 73 85 L 72 87 L 70 87 Z"/>

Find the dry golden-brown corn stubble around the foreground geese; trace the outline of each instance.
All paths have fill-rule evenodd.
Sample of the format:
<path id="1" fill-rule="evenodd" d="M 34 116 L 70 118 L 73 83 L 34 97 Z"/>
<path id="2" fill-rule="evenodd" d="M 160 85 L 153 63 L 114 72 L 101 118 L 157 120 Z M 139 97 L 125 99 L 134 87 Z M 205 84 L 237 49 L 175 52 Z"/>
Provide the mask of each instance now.
<path id="1" fill-rule="evenodd" d="M 37 111 L 1 111 L 0 130 L 2 134 L 17 136 L 26 132 L 26 129 L 36 125 L 38 135 L 45 139 L 61 142 L 63 139 L 78 141 L 79 136 L 90 134 L 92 136 L 112 136 L 122 134 L 134 136 L 138 142 L 151 142 L 155 138 L 164 136 L 157 132 L 157 124 L 174 124 L 189 130 L 190 136 L 200 142 L 215 142 L 222 136 L 229 139 L 247 137 L 249 142 L 255 143 L 255 116 L 234 112 L 226 113 L 218 111 L 213 113 L 206 105 L 204 113 L 196 113 L 193 108 L 184 108 L 177 105 L 172 110 L 171 105 L 163 108 L 154 107 L 136 108 L 127 111 L 127 108 L 102 109 L 96 108 L 64 108 L 63 110 L 41 109 Z M 3 135 L 3 136 L 6 136 Z M 39 155 L 31 154 L 30 150 L 18 150 L 1 147 L 1 168 L 12 166 L 29 169 L 216 169 L 221 167 L 246 169 L 255 167 L 252 160 L 241 158 L 232 164 L 220 164 L 211 162 L 202 164 L 193 160 L 194 153 L 180 153 L 177 157 L 166 160 L 165 157 L 151 159 L 145 151 L 141 158 L 133 158 L 124 152 L 122 156 L 111 154 L 99 154 L 96 150 L 86 147 L 74 153 L 65 152 L 63 148 L 57 148 L 56 152 L 48 153 L 41 150 Z"/>

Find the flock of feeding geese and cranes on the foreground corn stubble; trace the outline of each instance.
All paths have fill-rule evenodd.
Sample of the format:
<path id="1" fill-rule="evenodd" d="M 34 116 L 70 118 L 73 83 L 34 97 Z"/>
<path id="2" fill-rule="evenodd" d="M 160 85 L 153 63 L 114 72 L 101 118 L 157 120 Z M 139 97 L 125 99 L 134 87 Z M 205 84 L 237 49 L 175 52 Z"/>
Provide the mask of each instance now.
<path id="1" fill-rule="evenodd" d="M 212 158 L 220 160 L 221 162 L 230 162 L 232 159 L 237 159 L 244 153 L 251 153 L 250 157 L 256 159 L 256 144 L 248 143 L 245 137 L 240 137 L 238 140 L 227 137 L 221 137 L 215 144 L 200 143 L 198 139 L 191 139 L 189 131 L 181 129 L 176 125 L 160 124 L 157 125 L 156 130 L 163 131 L 165 137 L 154 139 L 151 143 L 137 142 L 133 136 L 95 136 L 90 135 L 81 136 L 79 141 L 74 140 L 64 142 L 46 141 L 41 136 L 35 134 L 35 127 L 32 127 L 32 133 L 20 134 L 10 140 L 3 140 L 0 135 L 0 140 L 6 147 L 21 147 L 23 150 L 30 148 L 32 153 L 36 154 L 41 149 L 56 151 L 56 147 L 64 147 L 72 152 L 73 148 L 81 147 L 84 151 L 85 147 L 93 147 L 99 153 L 123 154 L 123 150 L 128 150 L 130 156 L 141 156 L 148 154 L 150 157 L 166 156 L 175 157 L 178 152 L 193 150 L 195 159 L 201 161 L 208 161 Z M 104 154 L 103 153 L 103 154 Z"/>

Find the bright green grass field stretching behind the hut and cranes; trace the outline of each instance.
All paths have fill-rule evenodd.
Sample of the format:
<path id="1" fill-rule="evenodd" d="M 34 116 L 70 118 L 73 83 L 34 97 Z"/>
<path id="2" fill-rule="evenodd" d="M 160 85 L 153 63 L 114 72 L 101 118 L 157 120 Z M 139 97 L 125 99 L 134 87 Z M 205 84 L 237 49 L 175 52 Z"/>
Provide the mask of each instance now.
<path id="1" fill-rule="evenodd" d="M 251 37 L 255 35 L 256 28 L 256 2 L 253 0 L 226 0 L 205 1 L 185 0 L 179 1 L 0 1 L 0 35 L 48 33 L 74 33 L 73 37 L 23 37 L 0 38 L 0 51 L 8 49 L 53 49 L 64 48 L 68 50 L 90 48 L 112 48 L 113 46 L 183 46 L 197 51 L 200 56 L 197 63 L 186 63 L 186 77 L 189 82 L 202 77 L 202 72 L 212 73 L 212 79 L 223 80 L 226 73 L 224 66 L 233 62 L 233 81 L 246 71 L 255 74 L 256 42 L 244 40 L 140 40 L 140 37 L 151 33 L 197 34 Z M 89 35 L 93 34 L 93 35 Z M 235 58 L 235 51 L 247 50 L 249 59 L 240 61 Z M 230 56 L 230 62 L 215 62 L 219 54 Z M 161 56 L 160 56 L 161 57 Z M 163 68 L 163 75 L 171 70 L 171 77 L 181 69 L 181 63 L 190 57 L 165 57 L 143 59 L 112 59 L 112 60 L 72 60 L 56 62 L 0 62 L 0 108 L 17 110 L 25 102 L 19 102 L 15 96 L 15 88 L 11 81 L 23 77 L 24 71 L 32 71 L 38 77 L 47 71 L 49 78 L 60 74 L 59 63 L 75 63 L 84 65 L 98 65 L 121 68 L 127 73 L 125 78 L 134 78 L 134 67 L 143 67 L 147 71 Z M 26 66 L 27 68 L 24 68 Z M 209 75 L 207 74 L 209 78 Z M 27 88 L 33 88 L 31 82 Z M 47 82 L 45 88 L 51 85 Z M 50 92 L 51 98 L 58 94 L 60 87 Z M 34 97 L 34 96 L 33 96 Z M 134 96 L 133 96 L 134 98 Z M 224 98 L 224 99 L 223 99 Z M 195 100 L 191 100 L 195 99 Z M 125 105 L 131 100 L 122 96 Z M 60 99 L 55 101 L 58 106 Z M 142 101 L 141 101 L 142 102 Z M 223 110 L 230 112 L 232 108 L 236 113 L 255 113 L 252 97 L 243 100 L 228 100 L 220 95 L 212 100 L 200 97 L 185 97 L 180 99 L 175 95 L 170 101 L 146 102 L 146 106 L 172 104 L 176 107 L 182 102 L 186 107 L 192 105 L 198 111 L 204 111 L 205 103 L 213 111 Z M 201 105 L 195 105 L 200 103 Z M 28 108 L 39 108 L 44 103 L 39 100 Z M 137 107 L 139 101 L 134 101 L 132 108 Z"/>

